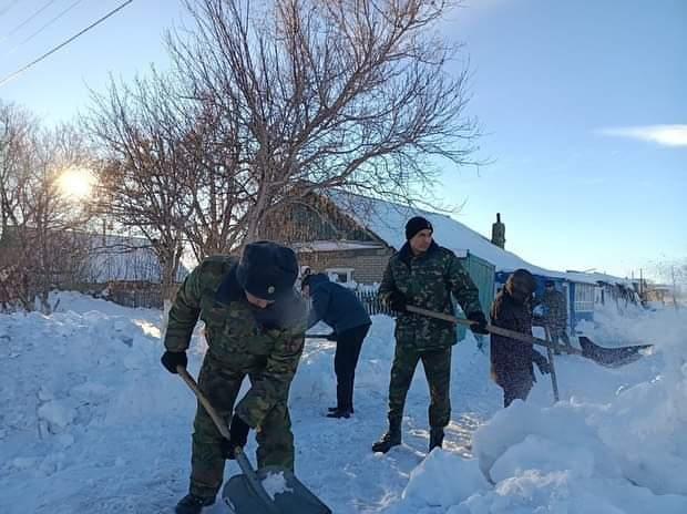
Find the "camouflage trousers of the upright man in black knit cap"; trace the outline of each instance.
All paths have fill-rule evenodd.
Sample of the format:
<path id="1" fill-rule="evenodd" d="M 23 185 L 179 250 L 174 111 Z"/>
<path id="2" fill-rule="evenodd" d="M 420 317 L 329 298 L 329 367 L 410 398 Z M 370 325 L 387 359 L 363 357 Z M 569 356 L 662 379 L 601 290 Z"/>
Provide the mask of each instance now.
<path id="1" fill-rule="evenodd" d="M 400 426 L 403 407 L 412 377 L 422 361 L 430 390 L 429 422 L 433 429 L 443 429 L 451 419 L 451 347 L 438 350 L 418 350 L 409 345 L 396 345 L 391 381 L 389 382 L 389 425 Z"/>

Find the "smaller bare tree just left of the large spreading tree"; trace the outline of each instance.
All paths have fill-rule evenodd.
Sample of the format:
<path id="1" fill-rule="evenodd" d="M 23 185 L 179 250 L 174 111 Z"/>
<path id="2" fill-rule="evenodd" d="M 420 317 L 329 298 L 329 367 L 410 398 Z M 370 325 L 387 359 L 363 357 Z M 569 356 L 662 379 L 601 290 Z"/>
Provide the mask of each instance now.
<path id="1" fill-rule="evenodd" d="M 104 162 L 99 212 L 150 241 L 162 269 L 163 298 L 170 299 L 193 213 L 178 135 L 184 127 L 171 84 L 153 70 L 151 79 L 133 86 L 112 81 L 109 93 L 93 100 L 84 123 Z"/>

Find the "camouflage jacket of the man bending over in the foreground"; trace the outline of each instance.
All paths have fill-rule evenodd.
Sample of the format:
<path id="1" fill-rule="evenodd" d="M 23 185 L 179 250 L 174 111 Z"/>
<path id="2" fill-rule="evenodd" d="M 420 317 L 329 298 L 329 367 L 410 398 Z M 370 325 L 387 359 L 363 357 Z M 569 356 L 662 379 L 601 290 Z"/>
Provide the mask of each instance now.
<path id="1" fill-rule="evenodd" d="M 288 399 L 303 352 L 306 306 L 294 291 L 265 309 L 252 307 L 236 281 L 236 264 L 232 257 L 209 257 L 186 277 L 170 310 L 165 348 L 185 351 L 198 318 L 205 321 L 209 357 L 250 376 L 252 388 L 235 412 L 257 428 Z"/>

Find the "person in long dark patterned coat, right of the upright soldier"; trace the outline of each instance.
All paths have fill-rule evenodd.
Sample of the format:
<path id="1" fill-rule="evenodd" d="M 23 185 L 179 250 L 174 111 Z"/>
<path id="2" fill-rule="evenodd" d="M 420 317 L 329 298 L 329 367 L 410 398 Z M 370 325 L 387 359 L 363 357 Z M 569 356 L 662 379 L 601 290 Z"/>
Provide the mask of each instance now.
<path id="1" fill-rule="evenodd" d="M 526 269 L 517 269 L 496 295 L 491 308 L 491 322 L 516 332 L 532 336 L 531 300 L 536 281 Z M 513 400 L 526 400 L 535 381 L 535 363 L 542 373 L 551 372 L 548 361 L 532 345 L 503 336 L 491 336 L 491 373 L 503 389 L 503 405 Z"/>

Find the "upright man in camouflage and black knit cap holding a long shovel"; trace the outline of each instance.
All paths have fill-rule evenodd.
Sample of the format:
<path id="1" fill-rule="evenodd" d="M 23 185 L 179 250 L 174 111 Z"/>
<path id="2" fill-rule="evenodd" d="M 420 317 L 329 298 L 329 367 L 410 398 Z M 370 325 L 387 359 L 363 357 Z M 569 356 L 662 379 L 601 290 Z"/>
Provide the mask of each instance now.
<path id="1" fill-rule="evenodd" d="M 372 445 L 372 451 L 387 453 L 401 444 L 401 421 L 406 395 L 418 361 L 422 361 L 430 388 L 429 450 L 441 446 L 443 429 L 451 417 L 451 347 L 457 342 L 455 326 L 447 321 L 414 315 L 406 310 L 412 305 L 452 315 L 453 300 L 474 321 L 472 331 L 486 332 L 486 319 L 480 305 L 478 288 L 453 251 L 432 240 L 432 225 L 413 217 L 406 225 L 407 243 L 394 254 L 384 271 L 379 297 L 399 315 L 396 321 L 396 354 L 389 383 L 389 430 Z"/>

